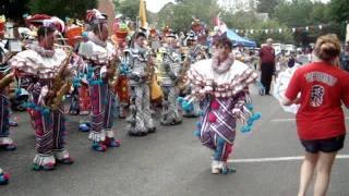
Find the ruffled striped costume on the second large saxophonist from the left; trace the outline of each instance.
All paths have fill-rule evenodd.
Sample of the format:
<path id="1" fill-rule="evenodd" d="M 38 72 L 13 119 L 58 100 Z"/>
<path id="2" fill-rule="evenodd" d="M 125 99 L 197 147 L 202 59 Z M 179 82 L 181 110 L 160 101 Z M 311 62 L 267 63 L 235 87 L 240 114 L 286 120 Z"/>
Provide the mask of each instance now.
<path id="1" fill-rule="evenodd" d="M 93 140 L 93 149 L 105 151 L 107 147 L 120 146 L 116 139 L 112 124 L 116 110 L 116 95 L 107 83 L 107 66 L 116 56 L 110 42 L 103 42 L 94 34 L 88 35 L 89 41 L 80 47 L 79 54 L 87 63 L 87 81 L 91 94 L 92 120 L 88 138 Z"/>

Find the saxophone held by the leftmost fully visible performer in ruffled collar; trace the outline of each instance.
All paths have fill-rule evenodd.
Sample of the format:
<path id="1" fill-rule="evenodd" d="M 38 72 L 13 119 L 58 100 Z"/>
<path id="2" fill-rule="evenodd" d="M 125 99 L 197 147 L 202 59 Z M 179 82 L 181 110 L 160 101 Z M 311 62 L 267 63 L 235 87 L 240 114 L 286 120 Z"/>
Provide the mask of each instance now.
<path id="1" fill-rule="evenodd" d="M 46 106 L 48 106 L 52 111 L 58 110 L 60 103 L 62 102 L 63 96 L 70 90 L 72 86 L 71 78 L 67 79 L 67 71 L 68 65 L 70 63 L 70 59 L 73 56 L 73 49 L 70 47 L 65 59 L 62 61 L 60 65 L 60 70 L 52 83 L 52 93 L 53 95 L 47 98 Z"/>

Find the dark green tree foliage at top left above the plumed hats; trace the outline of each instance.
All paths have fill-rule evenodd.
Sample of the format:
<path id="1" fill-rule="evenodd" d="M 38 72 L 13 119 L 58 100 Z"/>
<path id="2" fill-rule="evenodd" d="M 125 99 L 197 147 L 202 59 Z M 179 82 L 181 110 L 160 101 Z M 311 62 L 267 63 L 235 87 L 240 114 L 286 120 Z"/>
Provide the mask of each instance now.
<path id="1" fill-rule="evenodd" d="M 97 0 L 29 0 L 32 14 L 48 14 L 61 19 L 85 19 L 86 10 L 97 8 Z"/>

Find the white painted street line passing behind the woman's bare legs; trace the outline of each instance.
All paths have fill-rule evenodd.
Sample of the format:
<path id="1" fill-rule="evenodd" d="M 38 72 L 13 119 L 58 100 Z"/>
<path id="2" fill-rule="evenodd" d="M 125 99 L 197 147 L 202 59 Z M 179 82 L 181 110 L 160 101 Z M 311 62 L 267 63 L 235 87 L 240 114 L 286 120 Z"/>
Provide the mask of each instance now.
<path id="1" fill-rule="evenodd" d="M 278 162 L 303 160 L 303 156 L 298 157 L 276 157 L 276 158 L 257 158 L 257 159 L 229 159 L 228 162 Z M 349 159 L 349 155 L 337 155 L 336 159 Z"/>

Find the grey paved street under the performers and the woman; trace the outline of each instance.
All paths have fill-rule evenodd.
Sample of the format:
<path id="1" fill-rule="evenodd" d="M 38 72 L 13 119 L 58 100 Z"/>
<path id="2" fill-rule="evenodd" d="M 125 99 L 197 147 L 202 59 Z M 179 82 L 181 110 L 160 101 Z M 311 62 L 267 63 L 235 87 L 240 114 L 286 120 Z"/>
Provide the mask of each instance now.
<path id="1" fill-rule="evenodd" d="M 294 196 L 301 163 L 297 157 L 303 148 L 293 117 L 270 96 L 260 97 L 254 90 L 253 100 L 262 120 L 252 133 L 238 134 L 230 158 L 239 161 L 232 162 L 237 173 L 229 175 L 210 174 L 210 152 L 193 135 L 194 119 L 173 127 L 158 126 L 156 134 L 141 138 L 128 136 L 125 122 L 117 120 L 122 146 L 101 154 L 93 151 L 87 134 L 77 131 L 76 117 L 68 117 L 68 149 L 75 163 L 35 172 L 34 131 L 28 115 L 17 113 L 20 126 L 12 128 L 17 150 L 0 152 L 0 166 L 11 173 L 11 182 L 0 187 L 0 196 Z M 329 196 L 349 195 L 348 139 L 340 155 Z"/>

